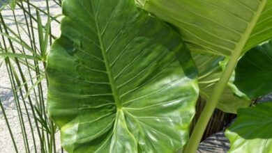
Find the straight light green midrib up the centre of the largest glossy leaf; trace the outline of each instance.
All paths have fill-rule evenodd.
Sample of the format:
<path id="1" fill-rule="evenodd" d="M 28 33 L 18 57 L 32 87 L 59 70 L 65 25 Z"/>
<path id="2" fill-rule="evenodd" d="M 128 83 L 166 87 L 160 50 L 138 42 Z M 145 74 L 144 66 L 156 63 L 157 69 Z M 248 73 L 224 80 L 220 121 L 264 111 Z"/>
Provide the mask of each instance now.
<path id="1" fill-rule="evenodd" d="M 107 69 L 107 74 L 108 74 L 108 77 L 109 77 L 109 83 L 110 83 L 110 86 L 112 88 L 112 95 L 114 97 L 114 102 L 116 104 L 116 108 L 117 110 L 120 110 L 121 107 L 122 107 L 122 104 L 121 104 L 121 100 L 119 98 L 119 92 L 117 90 L 117 86 L 116 86 L 116 81 L 114 79 L 114 75 L 112 73 L 112 69 L 109 65 L 109 58 L 107 56 L 107 52 L 105 50 L 105 46 L 104 46 L 104 43 L 103 43 L 103 39 L 102 39 L 102 35 L 100 34 L 100 28 L 99 28 L 99 25 L 98 25 L 98 18 L 97 18 L 97 15 L 95 14 L 95 22 L 96 22 L 96 30 L 97 30 L 97 33 L 98 33 L 98 40 L 99 40 L 99 43 L 100 43 L 100 47 L 101 47 L 101 51 L 102 51 L 102 54 L 103 54 L 103 58 L 104 58 L 104 61 L 105 61 L 105 67 Z"/>

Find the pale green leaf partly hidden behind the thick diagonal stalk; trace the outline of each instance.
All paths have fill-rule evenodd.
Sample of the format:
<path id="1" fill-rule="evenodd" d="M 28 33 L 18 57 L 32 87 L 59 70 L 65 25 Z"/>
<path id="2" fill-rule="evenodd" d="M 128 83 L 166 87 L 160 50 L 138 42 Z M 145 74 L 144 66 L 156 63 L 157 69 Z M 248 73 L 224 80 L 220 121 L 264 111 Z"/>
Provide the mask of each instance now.
<path id="1" fill-rule="evenodd" d="M 213 88 L 220 79 L 222 74 L 223 57 L 208 54 L 197 54 L 192 52 L 193 59 L 199 70 L 199 93 L 202 98 L 209 99 L 213 93 Z M 225 87 L 224 92 L 220 97 L 217 108 L 227 113 L 237 113 L 239 108 L 248 107 L 251 103 L 248 97 L 242 94 L 234 94 L 240 92 L 239 90 L 232 90 L 236 88 L 232 81 L 234 76 L 230 79 L 228 86 Z"/>

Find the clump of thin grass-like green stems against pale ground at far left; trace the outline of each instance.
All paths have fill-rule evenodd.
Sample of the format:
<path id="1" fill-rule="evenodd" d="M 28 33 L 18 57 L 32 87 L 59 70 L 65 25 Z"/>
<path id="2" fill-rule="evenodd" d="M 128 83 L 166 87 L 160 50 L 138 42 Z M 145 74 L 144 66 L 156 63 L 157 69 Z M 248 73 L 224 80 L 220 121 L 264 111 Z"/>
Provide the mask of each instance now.
<path id="1" fill-rule="evenodd" d="M 56 146 L 55 134 L 58 129 L 46 111 L 48 83 L 45 74 L 46 56 L 56 39 L 51 26 L 59 26 L 61 17 L 53 16 L 50 6 L 61 10 L 61 0 L 38 1 L 45 5 L 42 8 L 36 3 L 17 1 L 14 9 L 6 6 L 0 13 L 0 66 L 6 67 L 20 129 L 10 126 L 6 113 L 9 110 L 1 99 L 0 106 L 15 152 L 57 152 L 57 148 L 61 148 Z M 8 17 L 6 12 L 9 13 Z M 23 17 L 18 19 L 17 13 Z M 18 136 L 13 131 L 17 130 L 21 131 L 22 138 L 16 141 L 15 137 Z M 17 142 L 24 142 L 24 150 L 19 150 Z"/>

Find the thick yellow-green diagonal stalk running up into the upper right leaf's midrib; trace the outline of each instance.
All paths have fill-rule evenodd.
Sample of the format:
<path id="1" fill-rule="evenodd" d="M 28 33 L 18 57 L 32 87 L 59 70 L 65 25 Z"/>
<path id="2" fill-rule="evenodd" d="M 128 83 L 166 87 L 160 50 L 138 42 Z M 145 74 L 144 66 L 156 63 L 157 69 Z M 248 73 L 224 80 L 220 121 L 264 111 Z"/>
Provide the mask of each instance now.
<path id="1" fill-rule="evenodd" d="M 254 29 L 257 20 L 259 19 L 259 16 L 262 14 L 262 10 L 264 9 L 266 2 L 267 0 L 263 0 L 259 3 L 259 8 L 255 12 L 255 15 L 252 17 L 251 22 L 248 23 L 248 27 L 245 30 L 245 33 L 241 35 L 241 39 L 237 43 L 235 49 L 232 51 L 232 55 L 229 57 L 227 67 L 222 72 L 220 80 L 218 81 L 218 83 L 216 83 L 216 86 L 213 89 L 213 94 L 207 100 L 206 106 L 204 107 L 204 110 L 202 111 L 197 121 L 197 124 L 195 125 L 195 129 L 192 131 L 192 135 L 188 141 L 188 144 L 186 145 L 186 149 L 184 150 L 186 153 L 195 153 L 197 151 L 197 147 L 204 134 L 206 126 L 209 123 L 211 115 L 213 114 L 213 111 L 216 109 L 220 96 L 222 95 L 222 92 L 225 89 L 227 82 L 229 81 L 230 77 L 232 76 L 232 73 L 234 72 L 234 69 L 241 56 L 243 48 L 245 47 L 245 43 L 250 37 L 250 34 Z"/>

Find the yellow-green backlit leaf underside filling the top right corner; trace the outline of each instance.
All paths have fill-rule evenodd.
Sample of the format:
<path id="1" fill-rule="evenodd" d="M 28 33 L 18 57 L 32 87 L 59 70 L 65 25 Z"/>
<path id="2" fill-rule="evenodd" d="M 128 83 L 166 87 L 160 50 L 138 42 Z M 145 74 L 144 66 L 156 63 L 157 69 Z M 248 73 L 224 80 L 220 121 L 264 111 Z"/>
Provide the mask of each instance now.
<path id="1" fill-rule="evenodd" d="M 181 29 L 191 47 L 230 56 L 272 38 L 272 0 L 135 0 Z"/>

